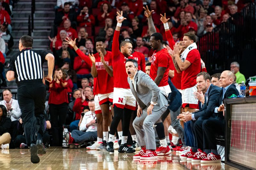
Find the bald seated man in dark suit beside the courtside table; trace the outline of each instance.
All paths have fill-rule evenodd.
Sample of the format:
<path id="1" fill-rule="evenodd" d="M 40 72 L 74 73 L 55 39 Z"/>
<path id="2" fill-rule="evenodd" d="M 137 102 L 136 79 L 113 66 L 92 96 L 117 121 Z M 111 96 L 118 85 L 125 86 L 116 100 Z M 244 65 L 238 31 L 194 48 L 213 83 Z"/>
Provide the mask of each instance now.
<path id="1" fill-rule="evenodd" d="M 233 84 L 235 79 L 234 74 L 225 70 L 220 75 L 220 86 L 222 89 L 220 90 L 220 97 L 218 101 L 218 105 L 220 107 L 214 108 L 214 113 L 217 114 L 217 119 L 207 119 L 202 123 L 203 134 L 203 149 L 198 157 L 193 158 L 192 162 L 201 162 L 201 163 L 218 163 L 221 161 L 220 155 L 217 152 L 217 144 L 216 144 L 216 134 L 224 136 L 225 133 L 225 121 L 224 121 L 224 104 L 223 100 L 230 97 L 232 94 L 239 95 L 239 92 L 236 89 L 236 85 Z M 196 133 L 198 130 L 196 129 Z M 200 133 L 200 132 L 199 132 Z M 199 134 L 200 135 L 200 134 Z"/>

